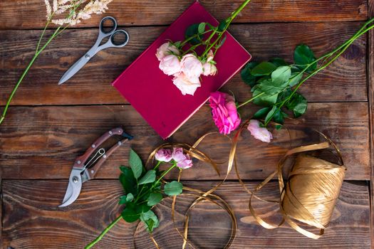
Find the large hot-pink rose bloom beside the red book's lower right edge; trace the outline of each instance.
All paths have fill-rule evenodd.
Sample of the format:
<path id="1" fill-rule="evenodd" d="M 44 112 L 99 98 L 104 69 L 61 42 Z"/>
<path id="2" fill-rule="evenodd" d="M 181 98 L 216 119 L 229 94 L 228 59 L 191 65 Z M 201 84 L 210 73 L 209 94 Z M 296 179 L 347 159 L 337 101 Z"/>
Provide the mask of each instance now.
<path id="1" fill-rule="evenodd" d="M 218 127 L 219 133 L 230 134 L 239 127 L 241 120 L 232 95 L 225 92 L 212 92 L 209 102 L 214 124 Z"/>

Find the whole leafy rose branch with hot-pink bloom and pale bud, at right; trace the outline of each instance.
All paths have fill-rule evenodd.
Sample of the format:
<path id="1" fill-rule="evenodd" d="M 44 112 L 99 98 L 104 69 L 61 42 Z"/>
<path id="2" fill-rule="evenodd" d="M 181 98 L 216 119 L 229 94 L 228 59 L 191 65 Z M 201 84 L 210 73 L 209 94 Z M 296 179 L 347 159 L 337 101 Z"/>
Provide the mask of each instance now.
<path id="1" fill-rule="evenodd" d="M 371 18 L 341 46 L 319 58 L 314 56 L 311 48 L 301 44 L 295 48 L 292 64 L 281 58 L 248 63 L 241 70 L 241 78 L 251 87 L 252 97 L 249 100 L 239 104 L 225 92 L 212 92 L 210 96 L 212 117 L 219 132 L 229 134 L 237 129 L 241 122 L 238 109 L 253 102 L 262 108 L 254 114 L 247 129 L 256 139 L 271 142 L 272 134 L 266 129 L 271 121 L 276 123 L 276 129 L 280 129 L 284 118 L 288 117 L 287 111 L 292 112 L 295 118 L 306 112 L 308 102 L 298 92 L 301 85 L 327 68 L 355 40 L 374 28 L 373 22 L 374 18 Z"/>

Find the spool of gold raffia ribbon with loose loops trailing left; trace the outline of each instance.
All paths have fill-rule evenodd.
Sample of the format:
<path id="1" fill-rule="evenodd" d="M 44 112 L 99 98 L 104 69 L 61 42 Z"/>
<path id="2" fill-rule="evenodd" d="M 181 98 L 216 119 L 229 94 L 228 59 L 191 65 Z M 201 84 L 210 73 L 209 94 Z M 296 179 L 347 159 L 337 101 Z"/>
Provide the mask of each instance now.
<path id="1" fill-rule="evenodd" d="M 318 132 L 318 131 L 316 131 Z M 333 208 L 339 196 L 341 185 L 346 171 L 343 166 L 343 159 L 341 152 L 336 144 L 331 139 L 328 139 L 324 134 L 318 132 L 328 142 L 320 144 L 311 144 L 303 147 L 296 147 L 290 149 L 289 152 L 279 161 L 278 168 L 270 174 L 261 184 L 256 186 L 254 191 L 249 191 L 251 198 L 249 199 L 249 210 L 255 220 L 264 228 L 274 229 L 281 226 L 284 221 L 294 228 L 299 233 L 306 235 L 308 238 L 318 239 L 323 235 L 324 229 L 333 214 Z M 312 157 L 302 152 L 310 152 L 318 149 L 327 149 L 332 145 L 338 154 L 338 159 L 341 165 L 333 164 L 330 161 Z M 293 154 L 298 154 L 294 165 L 289 173 L 289 181 L 286 186 L 282 176 L 282 169 L 284 162 Z M 235 165 L 239 182 L 242 186 L 237 166 Z M 273 225 L 267 223 L 260 218 L 254 211 L 251 205 L 252 197 L 256 197 L 256 192 L 262 189 L 274 176 L 278 176 L 279 191 L 281 193 L 279 199 L 279 209 L 283 217 L 281 223 Z M 273 201 L 274 202 L 274 201 Z M 301 228 L 295 221 L 299 221 L 308 226 L 313 226 L 320 229 L 317 235 Z M 241 221 L 246 223 L 246 217 L 241 218 Z"/>

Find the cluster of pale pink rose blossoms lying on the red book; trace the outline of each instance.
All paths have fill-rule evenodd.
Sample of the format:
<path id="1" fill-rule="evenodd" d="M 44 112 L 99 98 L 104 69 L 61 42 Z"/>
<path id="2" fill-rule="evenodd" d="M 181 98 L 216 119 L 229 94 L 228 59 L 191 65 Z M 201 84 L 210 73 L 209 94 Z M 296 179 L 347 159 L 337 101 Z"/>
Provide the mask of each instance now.
<path id="1" fill-rule="evenodd" d="M 213 60 L 213 51 L 209 51 L 207 60 L 197 58 L 194 53 L 184 54 L 175 44 L 167 42 L 157 48 L 157 59 L 160 60 L 160 69 L 166 75 L 173 75 L 172 82 L 183 95 L 194 95 L 201 86 L 201 75 L 215 75 L 217 67 Z"/>

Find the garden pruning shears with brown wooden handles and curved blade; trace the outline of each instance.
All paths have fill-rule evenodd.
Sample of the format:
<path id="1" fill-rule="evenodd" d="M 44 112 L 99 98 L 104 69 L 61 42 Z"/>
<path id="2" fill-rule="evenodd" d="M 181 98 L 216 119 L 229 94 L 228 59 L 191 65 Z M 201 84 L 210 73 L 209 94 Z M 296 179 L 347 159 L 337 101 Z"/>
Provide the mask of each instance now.
<path id="1" fill-rule="evenodd" d="M 103 148 L 98 149 L 101 144 L 103 144 L 113 135 L 120 135 L 124 139 L 113 145 L 113 147 L 108 149 L 107 152 L 105 152 L 105 149 Z M 93 142 L 93 144 L 91 144 L 91 146 L 87 149 L 85 154 L 76 158 L 69 177 L 68 188 L 66 189 L 62 204 L 58 207 L 63 208 L 76 201 L 80 194 L 80 190 L 82 189 L 82 184 L 85 181 L 93 179 L 104 161 L 108 159 L 108 157 L 113 152 L 115 152 L 115 150 L 118 149 L 122 144 L 131 139 L 133 139 L 133 137 L 125 133 L 121 127 L 110 129 L 109 132 L 105 132 L 101 137 L 96 139 L 96 141 Z M 95 155 L 91 157 L 93 152 L 95 152 L 96 150 L 97 152 L 95 153 Z M 95 164 L 96 161 L 97 163 Z"/>

